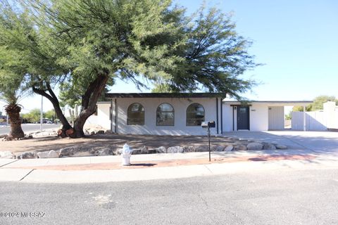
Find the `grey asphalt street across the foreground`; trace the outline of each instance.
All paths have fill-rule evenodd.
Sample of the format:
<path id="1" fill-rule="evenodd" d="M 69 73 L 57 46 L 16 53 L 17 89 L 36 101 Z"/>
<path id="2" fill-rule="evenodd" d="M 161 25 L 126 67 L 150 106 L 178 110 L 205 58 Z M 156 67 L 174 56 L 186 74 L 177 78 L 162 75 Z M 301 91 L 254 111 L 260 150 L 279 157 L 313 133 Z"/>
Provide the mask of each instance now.
<path id="1" fill-rule="evenodd" d="M 0 224 L 338 224 L 338 170 L 96 184 L 0 183 Z"/>

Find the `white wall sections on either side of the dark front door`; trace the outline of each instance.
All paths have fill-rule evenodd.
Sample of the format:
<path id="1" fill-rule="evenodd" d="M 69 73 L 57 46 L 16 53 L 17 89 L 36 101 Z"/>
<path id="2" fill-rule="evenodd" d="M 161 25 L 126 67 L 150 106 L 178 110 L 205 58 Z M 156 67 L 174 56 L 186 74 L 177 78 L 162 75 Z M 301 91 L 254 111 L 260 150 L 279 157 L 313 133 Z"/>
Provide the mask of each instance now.
<path id="1" fill-rule="evenodd" d="M 237 130 L 237 110 L 232 111 L 229 103 L 223 103 L 223 131 Z M 249 107 L 250 131 L 268 130 L 268 105 L 253 103 Z"/>

